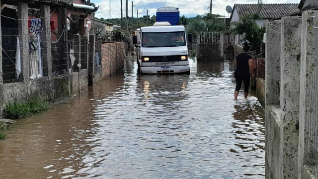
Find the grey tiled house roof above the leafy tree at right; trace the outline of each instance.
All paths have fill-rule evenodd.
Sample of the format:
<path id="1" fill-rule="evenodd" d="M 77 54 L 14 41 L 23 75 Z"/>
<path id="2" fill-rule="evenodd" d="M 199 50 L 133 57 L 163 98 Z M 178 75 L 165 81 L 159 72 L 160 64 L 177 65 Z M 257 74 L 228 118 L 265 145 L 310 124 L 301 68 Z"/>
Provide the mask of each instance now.
<path id="1" fill-rule="evenodd" d="M 258 13 L 264 19 L 274 19 L 299 11 L 298 3 L 262 4 L 260 11 L 259 4 L 234 4 L 231 19 L 235 9 L 237 9 L 240 18 L 247 14 Z"/>

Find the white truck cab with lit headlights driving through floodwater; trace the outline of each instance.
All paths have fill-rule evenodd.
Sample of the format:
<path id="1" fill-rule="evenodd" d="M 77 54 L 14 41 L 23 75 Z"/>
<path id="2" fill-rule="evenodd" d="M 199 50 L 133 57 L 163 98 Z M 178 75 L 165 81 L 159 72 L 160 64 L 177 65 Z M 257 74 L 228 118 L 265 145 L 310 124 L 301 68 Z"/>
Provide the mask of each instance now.
<path id="1" fill-rule="evenodd" d="M 137 29 L 133 42 L 137 47 L 138 69 L 144 74 L 168 74 L 190 72 L 187 43 L 182 25 L 156 22 L 154 26 Z"/>

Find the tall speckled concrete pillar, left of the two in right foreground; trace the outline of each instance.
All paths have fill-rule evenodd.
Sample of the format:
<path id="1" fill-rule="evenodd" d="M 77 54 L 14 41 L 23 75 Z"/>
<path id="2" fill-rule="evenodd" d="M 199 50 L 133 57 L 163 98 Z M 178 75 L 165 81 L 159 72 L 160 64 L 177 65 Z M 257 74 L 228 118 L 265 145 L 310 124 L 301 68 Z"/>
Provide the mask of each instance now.
<path id="1" fill-rule="evenodd" d="M 281 20 L 280 61 L 280 131 L 282 179 L 297 179 L 298 171 L 298 122 L 300 92 L 300 17 L 283 17 Z"/>

